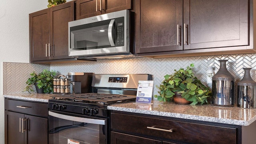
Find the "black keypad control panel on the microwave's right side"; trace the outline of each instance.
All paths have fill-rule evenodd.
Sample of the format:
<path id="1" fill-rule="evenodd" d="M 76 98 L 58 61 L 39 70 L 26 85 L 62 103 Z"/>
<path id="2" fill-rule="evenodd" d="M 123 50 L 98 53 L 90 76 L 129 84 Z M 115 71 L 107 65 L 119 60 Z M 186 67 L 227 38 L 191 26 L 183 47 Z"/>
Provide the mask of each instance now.
<path id="1" fill-rule="evenodd" d="M 124 17 L 116 18 L 116 46 L 124 46 Z"/>

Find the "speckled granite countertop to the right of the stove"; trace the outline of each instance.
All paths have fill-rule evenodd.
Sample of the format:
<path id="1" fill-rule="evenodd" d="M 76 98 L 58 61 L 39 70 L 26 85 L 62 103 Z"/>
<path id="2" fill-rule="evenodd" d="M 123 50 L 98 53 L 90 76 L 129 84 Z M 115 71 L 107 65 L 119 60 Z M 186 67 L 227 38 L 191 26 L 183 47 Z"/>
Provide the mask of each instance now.
<path id="1" fill-rule="evenodd" d="M 108 106 L 108 109 L 240 126 L 248 126 L 256 120 L 256 108 L 238 108 L 236 105 L 234 107 L 218 107 L 211 104 L 192 106 L 159 102 L 157 100 L 152 100 L 152 103 L 152 105 L 135 103 L 115 104 Z"/>

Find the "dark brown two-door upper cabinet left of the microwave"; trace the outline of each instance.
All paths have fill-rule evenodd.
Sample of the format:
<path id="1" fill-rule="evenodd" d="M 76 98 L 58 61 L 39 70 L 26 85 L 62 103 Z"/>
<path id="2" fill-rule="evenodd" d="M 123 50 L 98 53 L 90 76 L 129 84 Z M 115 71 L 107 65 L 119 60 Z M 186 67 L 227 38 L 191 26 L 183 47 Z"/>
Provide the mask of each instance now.
<path id="1" fill-rule="evenodd" d="M 74 20 L 74 2 L 29 14 L 30 62 L 68 56 L 68 22 Z"/>

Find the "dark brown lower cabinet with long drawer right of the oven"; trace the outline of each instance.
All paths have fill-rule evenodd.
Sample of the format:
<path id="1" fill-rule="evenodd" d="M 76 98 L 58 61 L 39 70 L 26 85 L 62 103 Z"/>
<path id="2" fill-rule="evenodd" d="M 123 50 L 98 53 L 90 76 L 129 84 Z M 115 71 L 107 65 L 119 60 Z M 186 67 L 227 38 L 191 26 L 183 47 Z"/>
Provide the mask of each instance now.
<path id="1" fill-rule="evenodd" d="M 241 144 L 241 127 L 112 111 L 111 144 Z"/>

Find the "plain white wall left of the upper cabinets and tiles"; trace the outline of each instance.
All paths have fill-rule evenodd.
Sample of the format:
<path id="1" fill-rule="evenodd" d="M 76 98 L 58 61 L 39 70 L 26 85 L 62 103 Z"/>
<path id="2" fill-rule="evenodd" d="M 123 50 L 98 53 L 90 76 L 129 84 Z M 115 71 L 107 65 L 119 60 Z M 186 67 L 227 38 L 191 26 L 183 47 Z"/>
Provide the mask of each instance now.
<path id="1" fill-rule="evenodd" d="M 71 1 L 71 0 L 67 0 Z M 48 0 L 1 0 L 0 4 L 0 144 L 4 144 L 3 62 L 29 63 L 28 14 L 47 8 Z M 16 68 L 13 73 L 18 74 Z M 14 136 L 15 138 L 15 136 Z"/>

